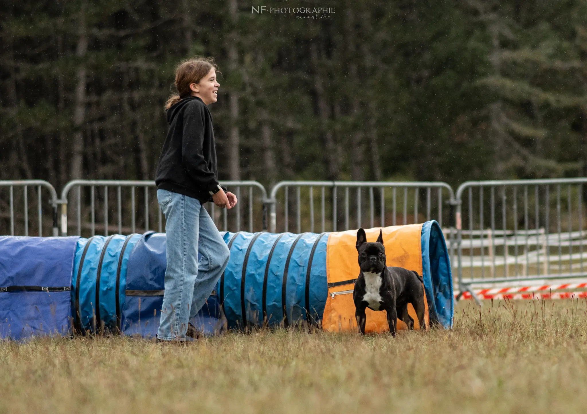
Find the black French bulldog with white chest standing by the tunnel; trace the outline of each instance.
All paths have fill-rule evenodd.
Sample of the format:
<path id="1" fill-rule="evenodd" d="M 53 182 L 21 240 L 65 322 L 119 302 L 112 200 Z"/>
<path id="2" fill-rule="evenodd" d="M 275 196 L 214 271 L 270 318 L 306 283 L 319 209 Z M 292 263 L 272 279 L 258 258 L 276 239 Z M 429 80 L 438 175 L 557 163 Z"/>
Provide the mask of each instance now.
<path id="1" fill-rule="evenodd" d="M 424 329 L 424 286 L 421 276 L 403 267 L 386 266 L 382 231 L 379 232 L 379 238 L 375 243 L 367 243 L 365 230 L 359 228 L 356 246 L 361 272 L 355 282 L 353 300 L 361 334 L 365 334 L 366 308 L 387 311 L 389 332 L 393 336 L 397 331 L 398 315 L 408 329 L 414 329 L 414 319 L 407 313 L 408 303 L 416 310 L 420 327 Z"/>

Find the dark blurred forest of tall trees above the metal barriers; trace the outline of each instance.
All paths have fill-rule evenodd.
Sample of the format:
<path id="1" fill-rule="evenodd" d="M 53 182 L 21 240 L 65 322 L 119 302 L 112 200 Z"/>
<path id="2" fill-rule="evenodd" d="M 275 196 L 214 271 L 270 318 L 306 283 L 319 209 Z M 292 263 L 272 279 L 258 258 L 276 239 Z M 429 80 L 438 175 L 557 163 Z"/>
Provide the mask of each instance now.
<path id="1" fill-rule="evenodd" d="M 0 179 L 153 179 L 193 55 L 222 72 L 221 179 L 587 175 L 585 1 L 1 4 Z"/>

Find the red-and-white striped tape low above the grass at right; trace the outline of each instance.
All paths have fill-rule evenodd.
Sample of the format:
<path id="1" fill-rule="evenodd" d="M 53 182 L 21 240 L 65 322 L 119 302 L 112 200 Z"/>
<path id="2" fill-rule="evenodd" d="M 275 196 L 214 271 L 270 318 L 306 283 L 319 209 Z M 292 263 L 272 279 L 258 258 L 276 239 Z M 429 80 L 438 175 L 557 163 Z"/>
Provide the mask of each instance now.
<path id="1" fill-rule="evenodd" d="M 475 295 L 480 299 L 571 299 L 587 298 L 587 291 L 556 292 L 559 290 L 587 290 L 587 282 L 565 283 L 562 285 L 542 286 L 517 286 L 509 288 L 491 288 L 475 290 Z M 455 292 L 455 298 L 459 292 Z M 471 299 L 470 292 L 463 292 L 463 299 Z"/>

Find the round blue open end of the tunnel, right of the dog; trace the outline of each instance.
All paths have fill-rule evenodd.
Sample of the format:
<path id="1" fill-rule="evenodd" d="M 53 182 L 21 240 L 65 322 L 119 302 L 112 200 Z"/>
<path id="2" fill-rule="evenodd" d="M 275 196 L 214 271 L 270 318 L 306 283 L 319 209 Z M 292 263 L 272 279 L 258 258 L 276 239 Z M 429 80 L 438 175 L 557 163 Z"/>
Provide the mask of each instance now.
<path id="1" fill-rule="evenodd" d="M 422 225 L 422 272 L 430 321 L 453 327 L 454 293 L 450 257 L 444 234 L 436 220 Z"/>

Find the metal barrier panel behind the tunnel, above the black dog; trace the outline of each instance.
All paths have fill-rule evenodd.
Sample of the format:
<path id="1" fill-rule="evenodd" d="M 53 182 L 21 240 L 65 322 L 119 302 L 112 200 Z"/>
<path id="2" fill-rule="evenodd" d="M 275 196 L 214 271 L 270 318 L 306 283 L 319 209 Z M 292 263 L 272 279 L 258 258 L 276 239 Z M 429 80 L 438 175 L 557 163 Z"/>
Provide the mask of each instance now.
<path id="1" fill-rule="evenodd" d="M 269 196 L 269 229 L 275 233 L 279 224 L 280 231 L 289 231 L 294 224 L 296 233 L 338 231 L 432 218 L 442 226 L 453 200 L 453 189 L 442 182 L 281 181 Z"/>

